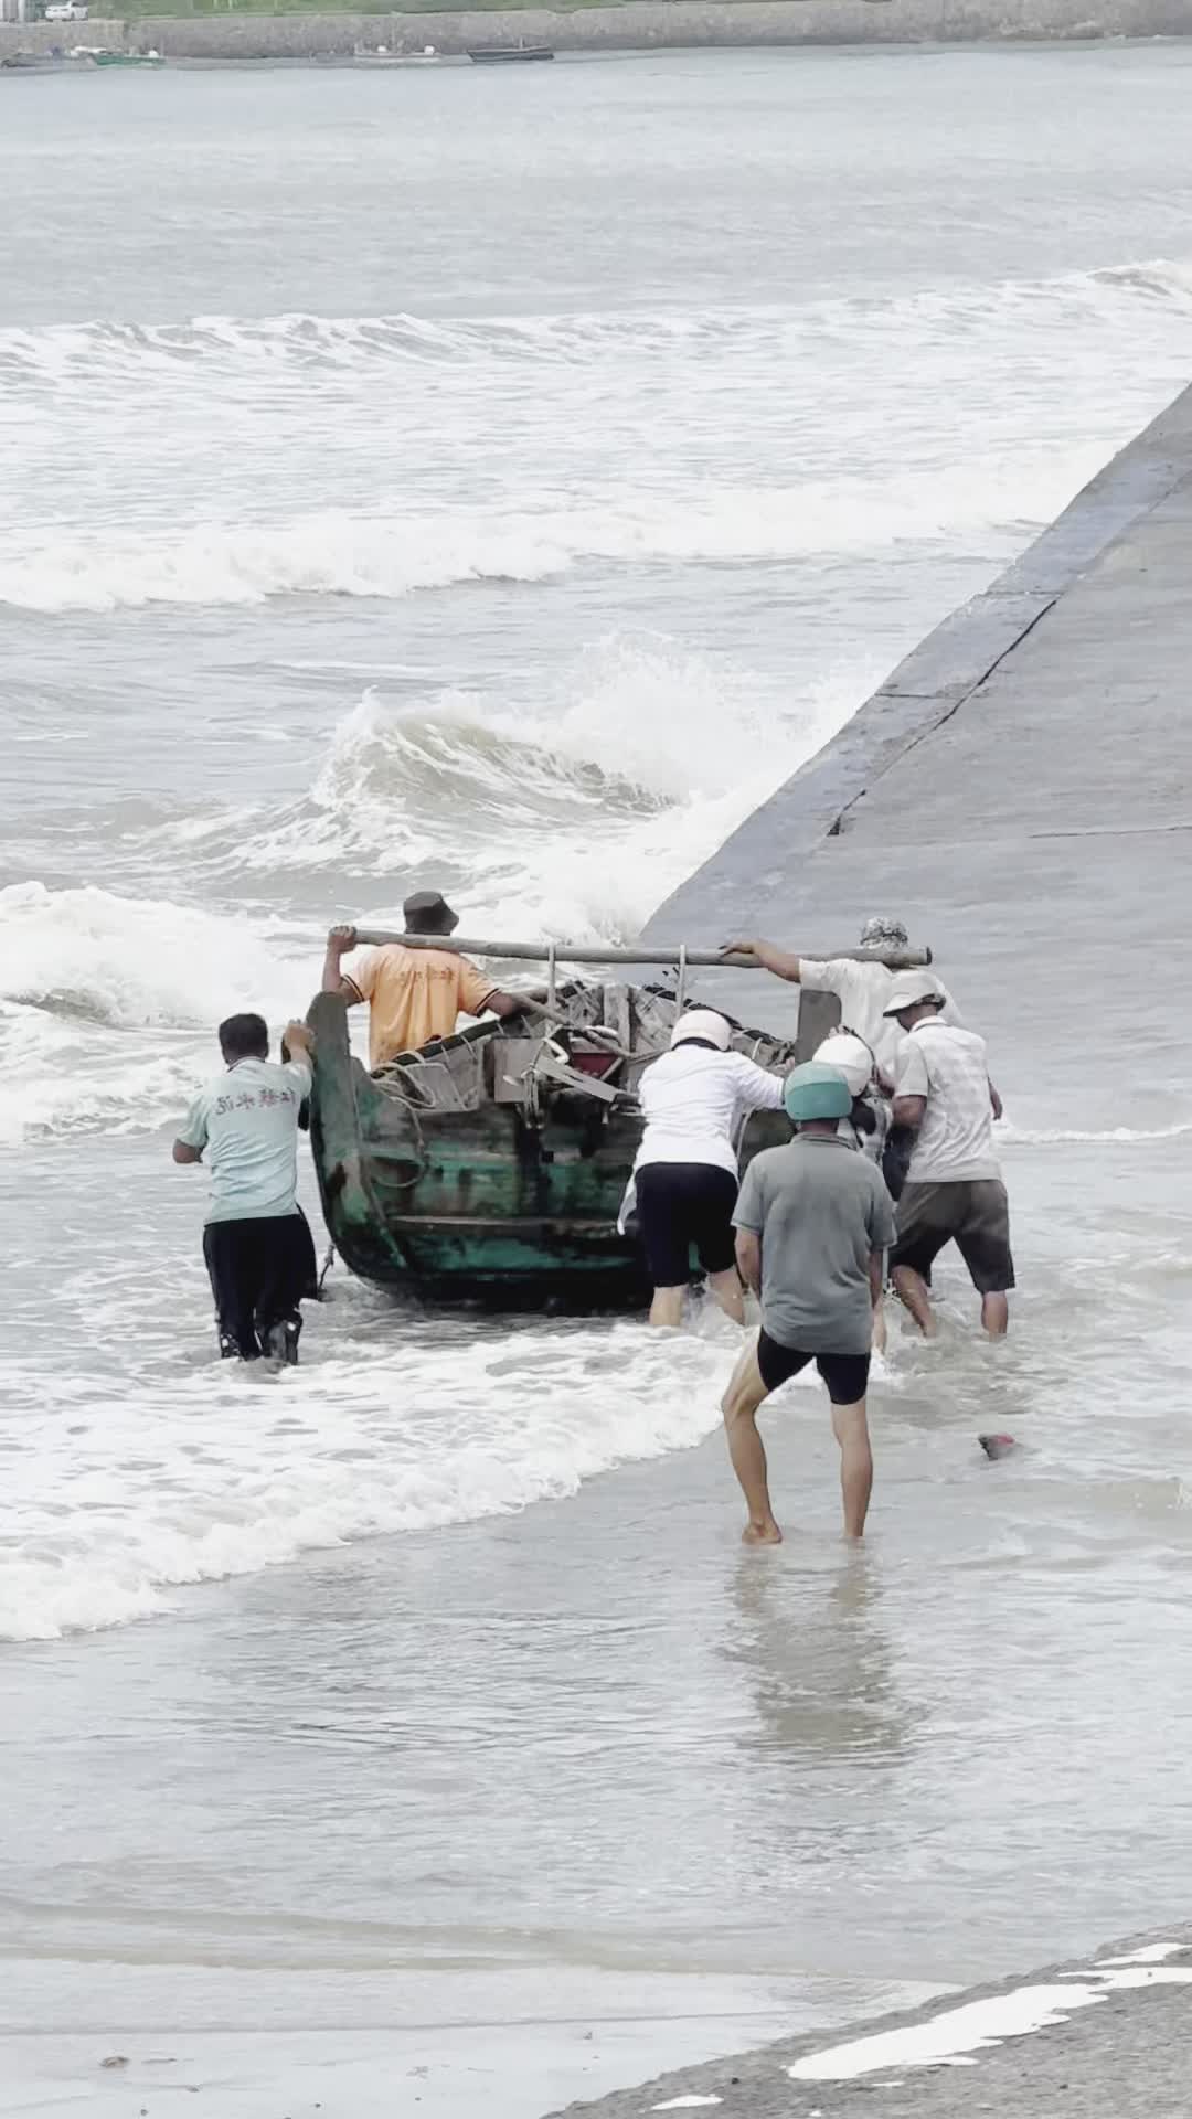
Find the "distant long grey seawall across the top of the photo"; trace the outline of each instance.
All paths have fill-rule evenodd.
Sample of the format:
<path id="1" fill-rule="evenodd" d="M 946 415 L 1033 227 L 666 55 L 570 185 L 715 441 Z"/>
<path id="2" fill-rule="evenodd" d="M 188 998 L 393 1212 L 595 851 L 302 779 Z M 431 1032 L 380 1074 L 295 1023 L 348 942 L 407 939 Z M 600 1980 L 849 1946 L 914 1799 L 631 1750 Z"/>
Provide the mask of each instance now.
<path id="1" fill-rule="evenodd" d="M 0 23 L 0 57 L 72 44 L 159 51 L 191 61 L 350 59 L 384 44 L 460 55 L 484 44 L 560 53 L 785 44 L 969 44 L 982 40 L 1190 36 L 1192 0 L 626 0 L 577 13 L 518 8 L 443 15 L 163 15 L 87 23 Z"/>

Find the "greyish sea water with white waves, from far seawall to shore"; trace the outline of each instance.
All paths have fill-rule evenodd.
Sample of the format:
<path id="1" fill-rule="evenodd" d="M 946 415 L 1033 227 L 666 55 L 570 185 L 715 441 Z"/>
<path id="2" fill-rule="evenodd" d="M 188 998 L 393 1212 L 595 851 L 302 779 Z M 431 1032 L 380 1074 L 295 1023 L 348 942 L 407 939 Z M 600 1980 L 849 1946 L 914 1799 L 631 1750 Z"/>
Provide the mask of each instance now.
<path id="1" fill-rule="evenodd" d="M 793 1392 L 806 1545 L 766 1583 L 713 1439 L 728 1326 L 411 1320 L 337 1271 L 297 1375 L 229 1375 L 170 1138 L 218 1017 L 301 1013 L 333 920 L 433 884 L 471 928 L 632 934 L 1175 394 L 1190 66 L 4 83 L 17 2028 L 76 2022 L 95 1956 L 95 2028 L 108 1990 L 297 2022 L 301 1979 L 354 1973 L 361 2024 L 450 2015 L 477 1966 L 672 2015 L 683 1981 L 781 1977 L 783 2028 L 1171 1897 L 1177 1771 L 1147 1757 L 1141 1816 L 1118 1693 L 1130 1666 L 1135 1712 L 1171 1708 L 1192 1466 L 1116 1413 L 1139 1363 L 1188 1371 L 1188 1240 L 1175 1206 L 1082 1218 L 1128 1129 L 1005 1085 L 1022 1335 L 993 1369 L 959 1322 L 942 1356 L 895 1337 L 861 1568 Z M 1122 1288 L 1139 1333 L 1105 1346 Z M 974 1428 L 1041 1384 L 997 1488 Z M 265 1998 L 210 2000 L 210 1964 Z"/>

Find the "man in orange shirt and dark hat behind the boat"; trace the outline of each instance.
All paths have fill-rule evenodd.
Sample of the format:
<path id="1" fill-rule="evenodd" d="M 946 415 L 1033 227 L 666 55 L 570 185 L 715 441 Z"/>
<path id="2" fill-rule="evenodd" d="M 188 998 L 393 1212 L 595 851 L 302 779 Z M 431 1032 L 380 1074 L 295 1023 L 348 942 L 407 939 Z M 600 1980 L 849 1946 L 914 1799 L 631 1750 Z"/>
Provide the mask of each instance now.
<path id="1" fill-rule="evenodd" d="M 407 934 L 454 934 L 460 924 L 458 913 L 437 890 L 418 890 L 401 911 Z M 390 941 L 382 949 L 369 949 L 346 975 L 341 960 L 354 947 L 356 928 L 331 928 L 322 992 L 341 994 L 348 1007 L 369 1002 L 373 1072 L 399 1053 L 418 1051 L 431 1038 L 448 1038 L 460 1011 L 481 1015 L 490 1009 L 492 1015 L 518 1015 L 526 1004 L 513 994 L 503 994 L 467 956 L 454 956 L 450 949 L 405 949 Z"/>

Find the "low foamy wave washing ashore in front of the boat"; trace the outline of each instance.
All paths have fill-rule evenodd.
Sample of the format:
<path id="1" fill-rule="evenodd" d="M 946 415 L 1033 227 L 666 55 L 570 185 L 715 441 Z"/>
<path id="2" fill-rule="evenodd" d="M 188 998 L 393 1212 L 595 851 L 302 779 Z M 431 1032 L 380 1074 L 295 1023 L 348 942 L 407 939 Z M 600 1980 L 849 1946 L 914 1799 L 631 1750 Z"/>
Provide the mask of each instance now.
<path id="1" fill-rule="evenodd" d="M 108 1329 L 110 1295 L 104 1295 Z M 327 1343 L 335 1318 L 320 1320 Z M 144 1320 L 138 1318 L 138 1339 Z M 153 1337 L 153 1335 L 151 1335 Z M 170 1608 L 170 1589 L 354 1538 L 511 1515 L 719 1424 L 732 1337 L 653 1346 L 641 1326 L 333 1350 L 280 1388 L 206 1365 L 106 1375 L 19 1367 L 19 1549 L 0 1551 L 0 1640 L 53 1640 Z M 532 1407 L 532 1411 L 530 1411 Z M 195 1449 L 201 1432 L 201 1449 Z M 87 1507 L 62 1496 L 85 1485 Z"/>

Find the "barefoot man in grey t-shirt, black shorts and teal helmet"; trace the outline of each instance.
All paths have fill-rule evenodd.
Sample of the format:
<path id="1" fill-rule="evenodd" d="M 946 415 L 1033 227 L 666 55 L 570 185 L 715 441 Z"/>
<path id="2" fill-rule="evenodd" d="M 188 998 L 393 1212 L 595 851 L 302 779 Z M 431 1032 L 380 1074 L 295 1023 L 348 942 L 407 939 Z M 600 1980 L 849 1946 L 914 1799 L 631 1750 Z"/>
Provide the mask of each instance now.
<path id="1" fill-rule="evenodd" d="M 865 1392 L 882 1252 L 893 1244 L 889 1191 L 867 1157 L 838 1138 L 853 1091 L 831 1066 L 787 1076 L 787 1117 L 797 1134 L 755 1155 L 736 1201 L 736 1263 L 761 1297 L 761 1335 L 736 1365 L 723 1399 L 732 1468 L 749 1509 L 747 1545 L 778 1545 L 757 1409 L 814 1360 L 831 1399 L 840 1443 L 844 1534 L 865 1530 L 874 1460 Z"/>

